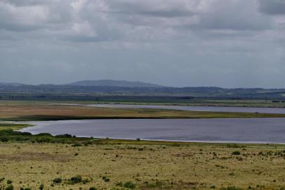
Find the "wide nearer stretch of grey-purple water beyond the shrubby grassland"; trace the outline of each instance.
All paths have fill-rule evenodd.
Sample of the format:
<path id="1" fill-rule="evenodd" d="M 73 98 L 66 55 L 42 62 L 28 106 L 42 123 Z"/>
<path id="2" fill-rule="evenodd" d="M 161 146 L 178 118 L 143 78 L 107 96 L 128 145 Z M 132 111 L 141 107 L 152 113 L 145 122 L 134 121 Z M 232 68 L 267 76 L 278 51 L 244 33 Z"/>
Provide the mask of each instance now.
<path id="1" fill-rule="evenodd" d="M 77 137 L 285 144 L 285 118 L 232 119 L 120 119 L 29 122 L 22 129 L 38 134 Z"/>

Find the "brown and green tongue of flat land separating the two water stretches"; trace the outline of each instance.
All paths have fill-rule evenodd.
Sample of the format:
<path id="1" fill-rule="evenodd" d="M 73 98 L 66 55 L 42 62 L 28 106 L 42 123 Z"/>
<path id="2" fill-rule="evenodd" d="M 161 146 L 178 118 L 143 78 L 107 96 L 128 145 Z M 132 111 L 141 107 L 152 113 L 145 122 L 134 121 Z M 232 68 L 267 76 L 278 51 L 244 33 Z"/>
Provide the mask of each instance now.
<path id="1" fill-rule="evenodd" d="M 187 110 L 90 108 L 51 102 L 0 102 L 0 120 L 72 120 L 108 118 L 284 118 L 284 114 L 218 113 Z"/>

